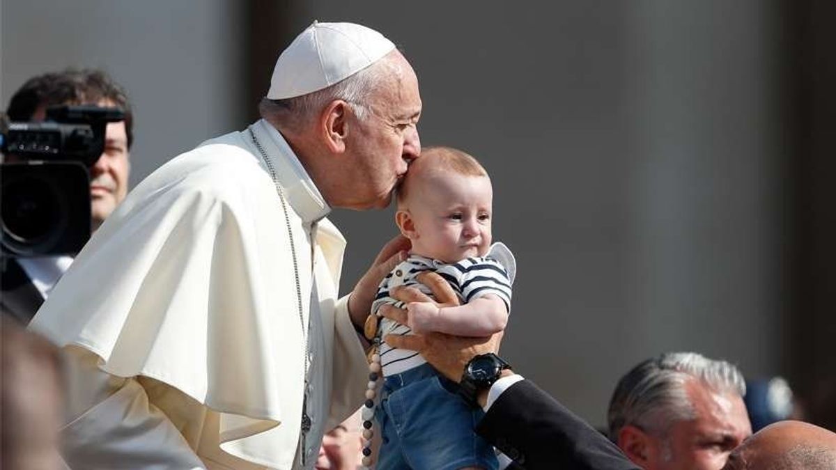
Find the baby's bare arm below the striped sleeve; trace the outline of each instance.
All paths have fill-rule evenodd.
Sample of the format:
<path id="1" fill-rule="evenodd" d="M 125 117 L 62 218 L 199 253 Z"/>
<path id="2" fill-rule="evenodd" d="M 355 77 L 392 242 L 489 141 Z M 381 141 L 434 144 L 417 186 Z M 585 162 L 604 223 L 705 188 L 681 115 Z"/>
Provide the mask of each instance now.
<path id="1" fill-rule="evenodd" d="M 489 336 L 505 330 L 508 310 L 496 294 L 486 294 L 464 305 L 442 307 L 429 302 L 406 304 L 408 326 L 415 333 L 439 331 L 456 336 Z"/>

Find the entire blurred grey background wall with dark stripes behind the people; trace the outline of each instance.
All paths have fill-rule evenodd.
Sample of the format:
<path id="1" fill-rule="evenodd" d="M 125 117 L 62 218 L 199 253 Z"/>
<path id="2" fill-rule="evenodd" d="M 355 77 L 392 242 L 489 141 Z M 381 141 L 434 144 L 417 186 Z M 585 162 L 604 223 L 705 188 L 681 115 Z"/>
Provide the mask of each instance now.
<path id="1" fill-rule="evenodd" d="M 398 43 L 424 145 L 492 175 L 519 275 L 502 354 L 595 425 L 667 350 L 787 375 L 836 370 L 836 8 L 815 1 L 3 0 L 3 108 L 33 74 L 99 67 L 135 106 L 133 183 L 257 117 L 314 19 Z M 828 20 L 830 18 L 830 20 Z M 335 211 L 347 292 L 395 234 Z"/>

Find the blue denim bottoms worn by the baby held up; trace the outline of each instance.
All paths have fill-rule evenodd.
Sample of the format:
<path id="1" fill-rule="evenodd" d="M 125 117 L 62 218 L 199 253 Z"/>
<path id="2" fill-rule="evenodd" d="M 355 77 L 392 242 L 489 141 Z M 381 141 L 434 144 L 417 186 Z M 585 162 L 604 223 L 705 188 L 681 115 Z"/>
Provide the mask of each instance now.
<path id="1" fill-rule="evenodd" d="M 473 431 L 484 413 L 457 387 L 429 364 L 385 378 L 375 411 L 383 437 L 377 470 L 496 470 L 493 447 Z"/>

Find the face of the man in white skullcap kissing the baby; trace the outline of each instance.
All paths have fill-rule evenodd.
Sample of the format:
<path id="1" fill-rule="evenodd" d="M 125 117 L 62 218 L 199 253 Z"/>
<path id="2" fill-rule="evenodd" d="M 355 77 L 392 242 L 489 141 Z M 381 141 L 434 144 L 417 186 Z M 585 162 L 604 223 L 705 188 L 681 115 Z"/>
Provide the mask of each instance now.
<path id="1" fill-rule="evenodd" d="M 410 64 L 398 52 L 391 58 L 399 74 L 375 90 L 370 113 L 357 121 L 351 139 L 351 174 L 344 176 L 352 209 L 382 208 L 389 205 L 392 190 L 407 170 L 409 161 L 421 154 L 418 119 L 421 95 L 418 79 Z"/>

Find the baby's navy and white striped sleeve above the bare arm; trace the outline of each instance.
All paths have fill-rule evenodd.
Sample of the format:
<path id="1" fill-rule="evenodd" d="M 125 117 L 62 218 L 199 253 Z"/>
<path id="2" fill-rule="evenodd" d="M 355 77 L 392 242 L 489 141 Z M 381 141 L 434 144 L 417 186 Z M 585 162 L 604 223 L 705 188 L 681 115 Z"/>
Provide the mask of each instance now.
<path id="1" fill-rule="evenodd" d="M 502 299 L 507 311 L 511 311 L 511 280 L 505 268 L 497 260 L 466 258 L 458 263 L 446 265 L 439 270 L 439 273 L 448 281 L 452 277 L 456 278 L 457 290 L 461 292 L 461 297 L 465 302 L 478 299 L 483 295 L 494 294 Z"/>

